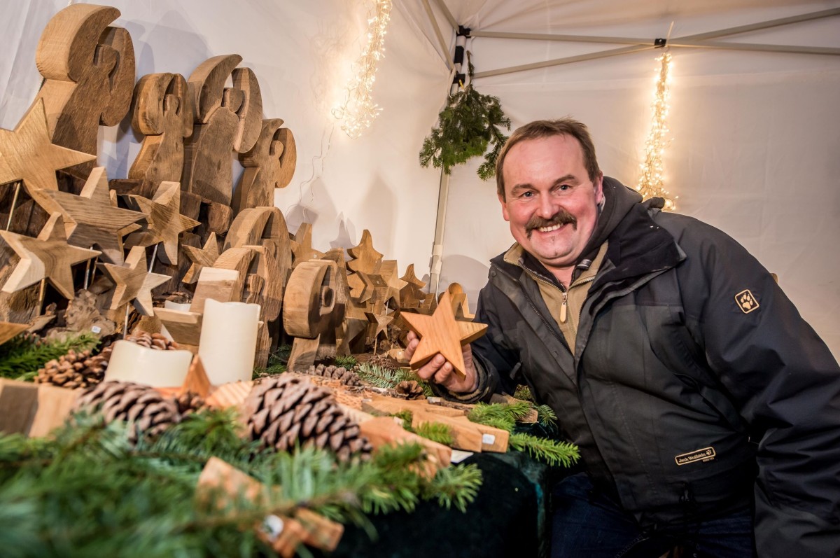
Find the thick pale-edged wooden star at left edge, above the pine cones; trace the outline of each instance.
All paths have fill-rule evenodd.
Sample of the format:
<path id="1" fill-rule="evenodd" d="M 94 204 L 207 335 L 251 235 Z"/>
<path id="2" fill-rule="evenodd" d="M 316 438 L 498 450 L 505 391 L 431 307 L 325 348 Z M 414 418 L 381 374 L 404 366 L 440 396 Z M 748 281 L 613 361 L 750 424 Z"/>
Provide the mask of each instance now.
<path id="1" fill-rule="evenodd" d="M 52 213 L 38 234 L 38 238 L 0 231 L 3 240 L 20 256 L 18 265 L 3 285 L 3 292 L 15 292 L 46 279 L 62 297 L 73 299 L 71 266 L 90 260 L 99 250 L 87 250 L 67 244 L 64 219 L 61 213 Z"/>

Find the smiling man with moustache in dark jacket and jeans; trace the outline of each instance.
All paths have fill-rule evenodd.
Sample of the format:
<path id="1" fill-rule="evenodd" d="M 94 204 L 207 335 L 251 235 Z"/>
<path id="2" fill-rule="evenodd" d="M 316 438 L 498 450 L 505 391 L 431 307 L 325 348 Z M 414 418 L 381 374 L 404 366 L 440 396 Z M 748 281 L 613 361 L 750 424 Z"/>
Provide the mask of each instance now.
<path id="1" fill-rule="evenodd" d="M 516 243 L 487 334 L 464 378 L 442 355 L 418 374 L 554 409 L 585 467 L 555 489 L 554 555 L 840 555 L 840 368 L 768 271 L 605 178 L 571 119 L 517 129 L 496 181 Z"/>

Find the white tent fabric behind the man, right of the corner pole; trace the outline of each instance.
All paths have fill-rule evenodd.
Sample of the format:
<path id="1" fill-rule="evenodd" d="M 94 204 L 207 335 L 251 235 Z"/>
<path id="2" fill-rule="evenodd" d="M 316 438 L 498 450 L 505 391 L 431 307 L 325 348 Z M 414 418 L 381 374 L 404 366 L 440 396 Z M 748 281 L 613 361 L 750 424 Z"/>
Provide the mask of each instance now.
<path id="1" fill-rule="evenodd" d="M 456 3 L 450 8 L 459 17 Z M 653 39 L 837 8 L 837 3 L 482 3 L 475 29 Z M 532 5 L 533 4 L 533 5 Z M 539 5 L 537 5 L 539 4 Z M 620 13 L 606 9 L 616 6 Z M 669 9 L 664 9 L 665 5 Z M 530 7 L 530 8 L 529 8 Z M 604 8 L 599 19 L 589 10 Z M 531 9 L 533 8 L 533 9 Z M 466 15 L 466 14 L 465 14 Z M 608 24 L 593 25 L 606 21 Z M 568 23 L 568 25 L 567 25 Z M 444 19 L 441 18 L 441 24 Z M 432 37 L 433 35 L 429 35 Z M 622 45 L 476 37 L 475 71 L 553 60 Z M 717 40 L 840 47 L 840 17 Z M 672 48 L 673 139 L 664 155 L 677 210 L 727 232 L 778 274 L 780 286 L 840 357 L 840 57 Z M 630 186 L 639 176 L 652 115 L 659 50 L 480 78 L 501 98 L 513 128 L 571 115 L 588 124 L 601 169 Z M 481 161 L 456 167 L 449 183 L 441 285 L 459 282 L 475 308 L 488 261 L 511 245 L 494 181 Z M 732 293 L 733 296 L 735 293 Z"/>

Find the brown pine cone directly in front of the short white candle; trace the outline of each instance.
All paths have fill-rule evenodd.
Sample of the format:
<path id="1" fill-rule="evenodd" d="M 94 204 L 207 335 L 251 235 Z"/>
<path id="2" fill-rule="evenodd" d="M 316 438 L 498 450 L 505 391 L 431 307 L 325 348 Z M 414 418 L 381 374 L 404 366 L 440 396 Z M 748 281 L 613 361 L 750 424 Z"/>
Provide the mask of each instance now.
<path id="1" fill-rule="evenodd" d="M 133 423 L 129 441 L 140 436 L 156 436 L 171 424 L 181 422 L 174 399 L 166 399 L 154 387 L 134 382 L 102 382 L 88 387 L 76 399 L 76 411 L 101 413 L 107 423 L 125 420 Z"/>

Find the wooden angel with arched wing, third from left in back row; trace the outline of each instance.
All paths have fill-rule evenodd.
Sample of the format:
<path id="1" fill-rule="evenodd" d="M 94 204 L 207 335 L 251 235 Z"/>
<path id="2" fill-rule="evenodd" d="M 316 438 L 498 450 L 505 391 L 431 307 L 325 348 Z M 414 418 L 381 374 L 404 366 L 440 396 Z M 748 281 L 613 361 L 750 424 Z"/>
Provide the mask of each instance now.
<path id="1" fill-rule="evenodd" d="M 249 151 L 260 137 L 260 84 L 242 56 L 221 55 L 202 62 L 188 80 L 194 103 L 192 136 L 185 144 L 181 184 L 208 202 L 229 206 L 234 190 L 234 151 Z M 224 87 L 232 78 L 234 87 Z M 218 231 L 224 232 L 224 231 Z"/>

